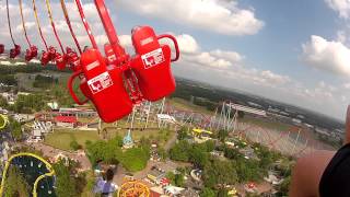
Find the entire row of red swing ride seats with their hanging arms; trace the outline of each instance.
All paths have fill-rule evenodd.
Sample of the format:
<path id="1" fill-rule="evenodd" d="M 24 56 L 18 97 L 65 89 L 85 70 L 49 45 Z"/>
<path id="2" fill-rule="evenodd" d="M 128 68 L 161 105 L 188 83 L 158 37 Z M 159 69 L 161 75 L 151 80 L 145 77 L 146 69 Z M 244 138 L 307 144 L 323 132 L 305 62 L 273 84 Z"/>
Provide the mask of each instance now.
<path id="1" fill-rule="evenodd" d="M 136 54 L 130 56 L 119 43 L 105 2 L 103 0 L 95 0 L 96 10 L 109 40 L 105 45 L 106 57 L 104 57 L 98 50 L 95 38 L 90 30 L 81 1 L 75 0 L 82 23 L 92 44 L 92 48 L 81 51 L 81 47 L 70 24 L 65 0 L 61 0 L 66 22 L 81 54 L 79 58 L 78 54 L 71 48 L 67 47 L 65 50 L 55 26 L 50 1 L 46 0 L 50 25 L 62 53 L 59 54 L 55 47 L 48 47 L 42 31 L 35 0 L 32 0 L 32 3 L 37 30 L 46 49 L 40 57 L 42 65 L 45 66 L 50 61 L 56 61 L 58 69 L 61 70 L 69 63 L 74 71 L 68 81 L 68 89 L 72 99 L 80 105 L 91 101 L 104 121 L 116 121 L 129 115 L 132 112 L 133 105 L 138 105 L 143 101 L 159 101 L 175 91 L 176 85 L 171 71 L 171 62 L 178 60 L 179 48 L 174 36 L 168 34 L 156 35 L 150 26 L 136 26 L 131 31 L 131 39 Z M 10 35 L 15 46 L 11 50 L 10 57 L 14 58 L 21 53 L 21 47 L 13 39 L 8 0 L 7 8 Z M 22 0 L 20 0 L 20 8 L 23 32 L 30 46 L 25 56 L 28 61 L 37 55 L 37 47 L 32 45 L 27 36 Z M 175 57 L 172 57 L 170 44 L 161 44 L 160 40 L 164 38 L 173 40 Z M 85 96 L 83 101 L 80 101 L 73 92 L 72 83 L 77 77 L 80 79 L 80 90 Z"/>

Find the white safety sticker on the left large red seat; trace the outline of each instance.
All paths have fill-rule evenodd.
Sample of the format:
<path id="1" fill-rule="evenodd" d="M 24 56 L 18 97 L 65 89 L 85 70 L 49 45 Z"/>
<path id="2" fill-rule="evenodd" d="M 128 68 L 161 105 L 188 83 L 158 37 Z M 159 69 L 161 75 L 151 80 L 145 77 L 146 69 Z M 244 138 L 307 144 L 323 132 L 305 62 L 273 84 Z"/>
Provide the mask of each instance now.
<path id="1" fill-rule="evenodd" d="M 103 72 L 102 74 L 91 79 L 88 81 L 88 85 L 93 94 L 96 94 L 108 86 L 113 85 L 113 81 L 110 79 L 109 73 Z"/>

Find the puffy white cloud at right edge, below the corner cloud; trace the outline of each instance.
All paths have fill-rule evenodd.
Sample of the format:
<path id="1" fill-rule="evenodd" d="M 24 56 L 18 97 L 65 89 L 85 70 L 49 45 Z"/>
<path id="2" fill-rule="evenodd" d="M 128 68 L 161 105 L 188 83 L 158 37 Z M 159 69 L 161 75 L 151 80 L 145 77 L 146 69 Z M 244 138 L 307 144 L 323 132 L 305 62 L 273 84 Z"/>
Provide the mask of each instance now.
<path id="1" fill-rule="evenodd" d="M 350 76 L 350 49 L 340 42 L 327 40 L 313 35 L 302 45 L 302 60 L 312 67 Z"/>

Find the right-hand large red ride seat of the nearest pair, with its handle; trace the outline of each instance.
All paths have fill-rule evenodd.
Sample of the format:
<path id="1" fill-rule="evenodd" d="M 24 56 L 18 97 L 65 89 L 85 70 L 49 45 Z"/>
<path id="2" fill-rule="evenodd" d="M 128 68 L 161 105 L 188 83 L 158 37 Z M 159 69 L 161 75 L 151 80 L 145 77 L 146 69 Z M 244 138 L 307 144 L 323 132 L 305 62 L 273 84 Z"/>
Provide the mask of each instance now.
<path id="1" fill-rule="evenodd" d="M 161 45 L 159 39 L 171 38 L 176 48 L 176 58 L 171 59 L 168 45 Z M 138 26 L 132 30 L 132 45 L 137 55 L 130 66 L 135 71 L 143 97 L 158 101 L 175 91 L 175 78 L 171 61 L 176 61 L 179 50 L 175 37 L 171 35 L 156 36 L 150 26 Z"/>

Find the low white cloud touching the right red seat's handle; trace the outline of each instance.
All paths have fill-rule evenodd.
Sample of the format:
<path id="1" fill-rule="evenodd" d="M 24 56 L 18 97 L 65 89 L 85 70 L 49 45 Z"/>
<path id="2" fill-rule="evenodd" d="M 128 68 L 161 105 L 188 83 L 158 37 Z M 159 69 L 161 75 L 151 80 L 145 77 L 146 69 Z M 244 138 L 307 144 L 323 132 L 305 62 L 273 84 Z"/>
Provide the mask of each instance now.
<path id="1" fill-rule="evenodd" d="M 231 82 L 238 82 L 256 86 L 281 86 L 289 82 L 291 79 L 287 76 L 273 73 L 270 70 L 257 70 L 246 68 L 244 66 L 245 57 L 232 50 L 213 49 L 203 51 L 200 49 L 198 42 L 190 35 L 177 35 L 177 38 L 184 38 L 179 46 L 196 46 L 191 48 L 190 53 L 182 53 L 178 66 L 174 67 L 182 73 L 197 80 L 210 79 L 211 81 L 218 80 L 222 82 L 228 79 Z M 182 69 L 179 71 L 179 69 Z M 185 70 L 191 70 L 186 73 Z M 200 73 L 197 76 L 197 73 Z M 221 84 L 224 85 L 224 84 Z"/>

